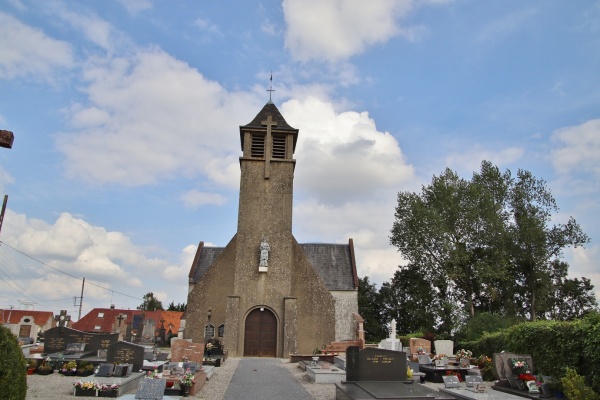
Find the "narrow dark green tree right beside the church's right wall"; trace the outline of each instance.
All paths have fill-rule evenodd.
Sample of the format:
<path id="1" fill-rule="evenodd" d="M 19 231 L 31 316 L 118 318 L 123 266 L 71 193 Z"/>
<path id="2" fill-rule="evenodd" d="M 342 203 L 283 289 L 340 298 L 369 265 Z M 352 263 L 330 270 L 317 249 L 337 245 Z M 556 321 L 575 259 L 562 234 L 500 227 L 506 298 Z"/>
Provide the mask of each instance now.
<path id="1" fill-rule="evenodd" d="M 379 293 L 375 284 L 369 282 L 368 276 L 358 281 L 358 313 L 365 320 L 365 341 L 379 342 L 388 336 Z"/>

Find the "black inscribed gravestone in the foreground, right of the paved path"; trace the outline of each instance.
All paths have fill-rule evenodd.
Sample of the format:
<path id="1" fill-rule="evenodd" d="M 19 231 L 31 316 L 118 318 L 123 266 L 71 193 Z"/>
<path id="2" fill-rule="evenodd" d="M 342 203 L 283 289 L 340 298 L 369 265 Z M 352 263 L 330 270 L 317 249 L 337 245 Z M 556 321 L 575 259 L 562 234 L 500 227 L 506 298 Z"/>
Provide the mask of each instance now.
<path id="1" fill-rule="evenodd" d="M 406 353 L 377 348 L 360 350 L 350 346 L 346 350 L 346 380 L 353 381 L 406 381 Z"/>

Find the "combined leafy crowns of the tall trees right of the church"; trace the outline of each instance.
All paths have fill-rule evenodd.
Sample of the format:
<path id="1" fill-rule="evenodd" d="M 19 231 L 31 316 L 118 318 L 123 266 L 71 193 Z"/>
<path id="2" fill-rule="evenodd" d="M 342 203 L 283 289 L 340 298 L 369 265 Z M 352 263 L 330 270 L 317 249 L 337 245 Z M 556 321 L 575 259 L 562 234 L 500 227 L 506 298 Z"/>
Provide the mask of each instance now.
<path id="1" fill-rule="evenodd" d="M 559 262 L 589 238 L 573 218 L 551 225 L 557 210 L 544 180 L 488 161 L 471 180 L 446 169 L 420 193 L 398 194 L 390 242 L 433 286 L 439 334 L 480 312 L 535 321 L 597 307 L 590 281 L 566 279 Z"/>

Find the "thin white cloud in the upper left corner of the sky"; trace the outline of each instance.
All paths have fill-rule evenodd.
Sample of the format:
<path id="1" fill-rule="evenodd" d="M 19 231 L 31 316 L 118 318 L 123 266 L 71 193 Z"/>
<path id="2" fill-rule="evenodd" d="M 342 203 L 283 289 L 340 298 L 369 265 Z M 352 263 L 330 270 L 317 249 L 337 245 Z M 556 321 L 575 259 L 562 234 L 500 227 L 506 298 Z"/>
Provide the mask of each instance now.
<path id="1" fill-rule="evenodd" d="M 73 67 L 68 43 L 2 12 L 0 26 L 0 78 L 31 77 L 51 82 L 60 70 Z"/>

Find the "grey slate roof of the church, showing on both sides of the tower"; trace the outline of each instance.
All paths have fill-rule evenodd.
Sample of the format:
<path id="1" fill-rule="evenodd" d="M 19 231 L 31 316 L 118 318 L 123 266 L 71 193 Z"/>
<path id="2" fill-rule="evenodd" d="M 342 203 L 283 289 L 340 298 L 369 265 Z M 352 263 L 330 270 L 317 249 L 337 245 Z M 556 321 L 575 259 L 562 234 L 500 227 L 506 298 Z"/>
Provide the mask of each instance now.
<path id="1" fill-rule="evenodd" d="M 352 239 L 349 244 L 307 243 L 300 244 L 300 247 L 315 267 L 327 289 L 355 290 L 358 288 Z M 206 247 L 200 243 L 190 270 L 190 282 L 199 282 L 224 249 L 224 247 Z"/>

